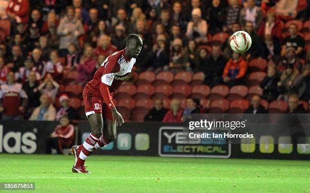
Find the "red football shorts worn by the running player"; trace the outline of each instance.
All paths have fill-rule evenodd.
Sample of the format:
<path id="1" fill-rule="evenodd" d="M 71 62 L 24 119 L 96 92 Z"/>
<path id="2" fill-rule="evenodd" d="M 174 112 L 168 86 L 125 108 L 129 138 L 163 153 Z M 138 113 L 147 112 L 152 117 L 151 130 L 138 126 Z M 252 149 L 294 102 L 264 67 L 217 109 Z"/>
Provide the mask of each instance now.
<path id="1" fill-rule="evenodd" d="M 103 119 L 113 120 L 111 110 L 103 102 L 103 99 L 93 96 L 91 92 L 86 91 L 83 92 L 83 100 L 85 104 L 86 117 L 94 113 L 102 113 Z"/>

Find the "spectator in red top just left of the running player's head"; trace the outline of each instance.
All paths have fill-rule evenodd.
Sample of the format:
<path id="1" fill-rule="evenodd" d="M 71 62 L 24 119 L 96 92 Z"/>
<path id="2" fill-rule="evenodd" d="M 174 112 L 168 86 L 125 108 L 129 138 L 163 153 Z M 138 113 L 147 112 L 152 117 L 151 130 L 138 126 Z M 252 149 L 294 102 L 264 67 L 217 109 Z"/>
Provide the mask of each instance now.
<path id="1" fill-rule="evenodd" d="M 95 55 L 103 54 L 106 57 L 117 52 L 118 49 L 114 45 L 111 44 L 111 37 L 108 35 L 101 35 L 98 40 L 98 46 L 95 49 Z"/>

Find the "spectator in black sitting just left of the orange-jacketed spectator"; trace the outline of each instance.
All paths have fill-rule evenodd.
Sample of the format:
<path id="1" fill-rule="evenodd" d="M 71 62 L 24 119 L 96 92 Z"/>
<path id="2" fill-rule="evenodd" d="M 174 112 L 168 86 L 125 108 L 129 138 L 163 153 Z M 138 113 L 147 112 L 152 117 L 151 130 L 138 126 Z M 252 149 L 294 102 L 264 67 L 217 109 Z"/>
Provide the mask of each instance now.
<path id="1" fill-rule="evenodd" d="M 221 74 L 224 70 L 227 60 L 222 55 L 221 47 L 212 46 L 211 55 L 207 58 L 206 63 L 202 66 L 205 73 L 204 83 L 211 87 L 221 83 Z"/>

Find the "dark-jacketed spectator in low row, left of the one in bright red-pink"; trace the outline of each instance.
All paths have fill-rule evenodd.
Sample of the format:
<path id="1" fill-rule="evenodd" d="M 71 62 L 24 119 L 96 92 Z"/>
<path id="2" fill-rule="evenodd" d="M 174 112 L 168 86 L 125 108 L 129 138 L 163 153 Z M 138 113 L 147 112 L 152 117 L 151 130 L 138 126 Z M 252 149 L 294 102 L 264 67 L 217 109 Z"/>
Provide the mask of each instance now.
<path id="1" fill-rule="evenodd" d="M 168 109 L 164 108 L 162 99 L 154 100 L 154 107 L 145 115 L 144 121 L 162 122 Z"/>

